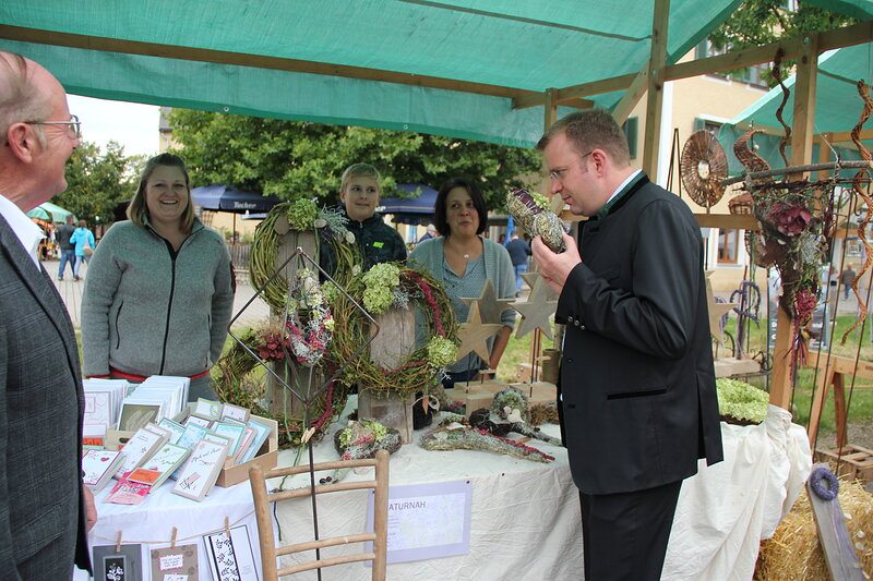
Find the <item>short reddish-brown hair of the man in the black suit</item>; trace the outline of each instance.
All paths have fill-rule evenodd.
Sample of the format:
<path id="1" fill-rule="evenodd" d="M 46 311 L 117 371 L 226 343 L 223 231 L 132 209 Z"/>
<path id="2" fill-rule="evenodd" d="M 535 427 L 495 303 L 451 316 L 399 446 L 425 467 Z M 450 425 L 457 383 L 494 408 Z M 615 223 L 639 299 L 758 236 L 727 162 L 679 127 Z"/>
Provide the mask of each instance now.
<path id="1" fill-rule="evenodd" d="M 567 136 L 579 155 L 585 155 L 591 149 L 602 149 L 615 164 L 631 162 L 627 137 L 606 109 L 586 109 L 562 117 L 546 131 L 537 143 L 537 149 L 542 152 L 562 133 Z"/>

